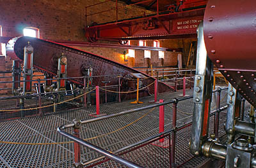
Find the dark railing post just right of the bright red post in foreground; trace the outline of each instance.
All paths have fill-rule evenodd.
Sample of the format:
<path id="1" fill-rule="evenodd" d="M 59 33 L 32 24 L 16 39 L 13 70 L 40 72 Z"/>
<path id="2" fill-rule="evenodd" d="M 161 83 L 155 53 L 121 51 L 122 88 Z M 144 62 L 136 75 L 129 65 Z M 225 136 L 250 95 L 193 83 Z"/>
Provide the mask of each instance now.
<path id="1" fill-rule="evenodd" d="M 171 150 L 171 165 L 172 167 L 175 167 L 175 146 L 176 146 L 176 124 L 177 124 L 177 104 L 178 100 L 175 99 L 175 102 L 173 103 L 173 111 L 172 111 L 172 126 L 173 126 L 173 133 L 172 133 L 172 150 Z"/>

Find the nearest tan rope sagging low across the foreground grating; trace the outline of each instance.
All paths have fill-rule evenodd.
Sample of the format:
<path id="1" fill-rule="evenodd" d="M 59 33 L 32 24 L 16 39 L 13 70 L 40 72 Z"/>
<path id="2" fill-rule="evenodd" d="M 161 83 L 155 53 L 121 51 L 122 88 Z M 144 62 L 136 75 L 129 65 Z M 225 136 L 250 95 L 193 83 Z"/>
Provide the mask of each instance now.
<path id="1" fill-rule="evenodd" d="M 88 141 L 88 140 L 92 140 L 92 139 L 97 139 L 99 137 L 104 137 L 104 136 L 108 136 L 109 134 L 113 134 L 115 132 L 118 132 L 120 130 L 125 129 L 126 127 L 129 127 L 130 125 L 140 121 L 142 118 L 144 118 L 145 116 L 149 115 L 149 113 L 151 113 L 155 108 L 150 109 L 150 111 L 148 111 L 147 113 L 145 113 L 145 115 L 141 116 L 140 118 L 138 118 L 137 120 L 134 120 L 133 122 L 125 125 L 124 127 L 121 127 L 120 129 L 116 129 L 113 130 L 112 132 L 108 132 L 106 134 L 102 134 L 100 136 L 95 136 L 95 137 L 90 137 L 87 139 L 83 139 L 84 141 Z M 68 143 L 74 143 L 74 141 L 65 141 L 65 142 L 60 142 L 60 143 L 16 143 L 16 142 L 10 142 L 10 141 L 0 141 L 0 143 L 4 143 L 4 144 L 28 144 L 28 145 L 48 145 L 48 144 L 68 144 Z"/>

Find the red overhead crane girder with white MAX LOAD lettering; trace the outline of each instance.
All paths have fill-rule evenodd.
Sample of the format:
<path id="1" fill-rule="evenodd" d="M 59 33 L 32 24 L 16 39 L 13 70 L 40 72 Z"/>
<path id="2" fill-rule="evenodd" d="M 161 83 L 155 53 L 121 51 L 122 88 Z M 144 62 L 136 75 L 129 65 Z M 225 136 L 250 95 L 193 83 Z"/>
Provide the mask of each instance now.
<path id="1" fill-rule="evenodd" d="M 150 0 L 152 1 L 152 0 Z M 102 2 L 106 3 L 108 1 Z M 207 0 L 177 0 L 176 11 L 168 8 L 159 11 L 159 1 L 156 1 L 156 13 L 127 20 L 118 20 L 118 3 L 116 0 L 116 20 L 107 24 L 88 27 L 88 16 L 104 13 L 109 10 L 87 14 L 87 9 L 97 3 L 86 6 L 86 38 L 95 42 L 98 39 L 168 39 L 168 38 L 196 38 L 196 28 L 203 20 Z M 127 6 L 148 3 L 140 1 Z M 112 9 L 113 10 L 113 9 Z"/>

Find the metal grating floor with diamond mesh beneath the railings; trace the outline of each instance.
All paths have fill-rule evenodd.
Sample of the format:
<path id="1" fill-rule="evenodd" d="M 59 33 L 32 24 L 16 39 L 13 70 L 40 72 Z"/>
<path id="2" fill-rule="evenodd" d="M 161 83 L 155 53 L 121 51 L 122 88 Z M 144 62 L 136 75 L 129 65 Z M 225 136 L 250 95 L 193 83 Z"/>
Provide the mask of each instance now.
<path id="1" fill-rule="evenodd" d="M 226 91 L 227 92 L 227 91 Z M 159 95 L 159 99 L 169 100 L 174 97 L 179 97 L 180 92 L 172 92 Z M 188 90 L 187 94 L 192 95 L 193 90 Z M 147 106 L 148 101 L 154 100 L 154 97 L 145 97 L 141 101 L 144 104 L 129 104 L 129 102 L 100 104 L 100 113 L 112 114 L 125 111 L 127 109 Z M 225 104 L 225 92 L 221 94 L 221 104 Z M 212 96 L 212 109 L 216 108 L 216 95 Z M 191 121 L 193 113 L 193 99 L 179 102 L 177 115 L 177 125 Z M 118 116 L 103 120 L 100 122 L 89 123 L 83 125 L 81 129 L 81 137 L 83 139 L 88 137 L 100 136 L 120 129 L 125 125 L 134 122 L 150 109 L 141 111 L 139 113 L 132 113 L 130 115 Z M 183 113 L 182 113 L 183 112 Z M 184 113 L 185 112 L 185 113 Z M 67 113 L 59 113 L 47 115 L 44 117 L 22 118 L 19 120 L 12 120 L 0 123 L 0 140 L 12 141 L 20 143 L 55 143 L 69 141 L 67 138 L 60 136 L 56 132 L 57 127 L 65 123 L 72 122 L 73 119 L 92 118 L 91 113 L 95 113 L 95 106 L 84 109 L 72 109 Z M 172 128 L 172 108 L 164 106 L 165 113 L 165 130 Z M 129 144 L 136 143 L 142 139 L 153 136 L 158 133 L 159 127 L 159 109 L 155 108 L 149 115 L 142 118 L 140 121 L 132 124 L 125 129 L 108 134 L 104 137 L 89 140 L 90 143 L 96 144 L 106 150 L 115 151 L 123 148 Z M 225 113 L 221 113 L 220 122 L 225 122 Z M 213 120 L 213 118 L 211 118 Z M 213 122 L 210 122 L 213 123 Z M 210 125 L 211 132 L 212 124 Z M 179 165 L 188 160 L 192 155 L 188 151 L 188 143 L 190 139 L 191 127 L 181 130 L 177 134 L 177 157 L 175 164 Z M 71 129 L 67 132 L 72 133 Z M 225 134 L 223 127 L 220 127 L 220 134 Z M 25 145 L 25 144 L 0 144 L 0 168 L 1 167 L 70 167 L 74 161 L 73 144 L 48 144 L 48 145 Z M 82 161 L 86 162 L 93 158 L 100 157 L 98 153 L 89 150 L 88 148 L 81 148 Z M 137 164 L 145 167 L 168 167 L 169 166 L 169 151 L 168 148 L 159 148 L 148 144 L 138 150 L 123 155 L 124 158 L 132 160 Z M 205 158 L 193 158 L 182 167 L 196 167 L 202 163 Z M 97 167 L 124 167 L 116 162 L 108 161 Z"/>

